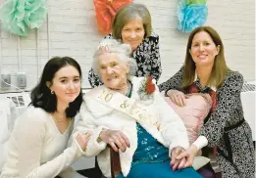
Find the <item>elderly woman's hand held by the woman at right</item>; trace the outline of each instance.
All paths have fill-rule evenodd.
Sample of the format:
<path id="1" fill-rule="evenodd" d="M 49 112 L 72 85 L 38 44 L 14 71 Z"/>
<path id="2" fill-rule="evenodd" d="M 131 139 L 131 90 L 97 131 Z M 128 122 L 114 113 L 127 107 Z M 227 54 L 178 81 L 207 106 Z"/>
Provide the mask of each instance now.
<path id="1" fill-rule="evenodd" d="M 172 153 L 171 153 L 171 167 L 173 168 L 173 170 L 177 170 L 180 169 L 184 166 L 185 162 L 186 162 L 186 158 L 182 157 L 182 158 L 177 158 L 177 156 L 179 156 L 181 153 L 183 153 L 184 150 L 180 147 L 176 147 L 173 149 Z"/>

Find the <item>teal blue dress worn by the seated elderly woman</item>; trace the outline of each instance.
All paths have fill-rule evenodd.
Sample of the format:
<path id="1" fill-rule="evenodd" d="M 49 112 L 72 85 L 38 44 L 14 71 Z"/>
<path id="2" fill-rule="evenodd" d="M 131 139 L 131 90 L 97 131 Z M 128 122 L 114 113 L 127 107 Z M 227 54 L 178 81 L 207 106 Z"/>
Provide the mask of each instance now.
<path id="1" fill-rule="evenodd" d="M 128 98 L 130 96 L 131 92 Z M 138 123 L 136 130 L 137 149 L 126 178 L 202 178 L 192 167 L 173 171 L 168 148 L 159 143 Z M 119 174 L 117 178 L 124 178 L 124 176 Z"/>

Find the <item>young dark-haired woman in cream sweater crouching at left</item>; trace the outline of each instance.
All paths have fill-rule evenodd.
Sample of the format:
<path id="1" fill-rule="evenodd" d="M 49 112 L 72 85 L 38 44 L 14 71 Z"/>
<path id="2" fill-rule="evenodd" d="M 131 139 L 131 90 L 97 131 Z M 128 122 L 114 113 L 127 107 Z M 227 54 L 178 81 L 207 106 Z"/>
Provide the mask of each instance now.
<path id="1" fill-rule="evenodd" d="M 56 57 L 46 64 L 30 106 L 15 123 L 1 178 L 74 177 L 68 167 L 82 152 L 75 142 L 66 148 L 82 102 L 80 79 L 81 69 L 72 58 Z M 89 134 L 78 134 L 81 149 L 88 139 Z"/>

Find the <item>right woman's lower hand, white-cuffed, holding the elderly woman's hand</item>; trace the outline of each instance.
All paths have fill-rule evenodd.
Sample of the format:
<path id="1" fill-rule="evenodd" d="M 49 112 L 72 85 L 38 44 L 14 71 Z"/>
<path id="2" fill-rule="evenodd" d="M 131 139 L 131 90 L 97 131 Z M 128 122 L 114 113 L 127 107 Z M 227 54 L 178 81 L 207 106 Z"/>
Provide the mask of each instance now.
<path id="1" fill-rule="evenodd" d="M 192 144 L 189 147 L 189 149 L 187 149 L 183 153 L 179 154 L 179 156 L 177 156 L 177 159 L 186 158 L 186 162 L 184 163 L 182 168 L 192 166 L 192 163 L 193 163 L 193 160 L 194 160 L 194 156 L 196 156 L 198 154 L 198 152 L 199 152 L 199 150 L 197 149 L 197 147 Z"/>

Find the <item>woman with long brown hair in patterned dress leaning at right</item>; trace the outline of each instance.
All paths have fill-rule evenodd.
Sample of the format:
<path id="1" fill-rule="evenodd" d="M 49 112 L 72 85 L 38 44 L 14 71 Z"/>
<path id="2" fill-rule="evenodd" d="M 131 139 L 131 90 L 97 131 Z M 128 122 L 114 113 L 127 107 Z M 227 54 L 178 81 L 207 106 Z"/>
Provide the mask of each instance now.
<path id="1" fill-rule="evenodd" d="M 255 151 L 242 111 L 242 85 L 242 75 L 226 65 L 224 45 L 217 31 L 209 26 L 194 29 L 188 38 L 184 67 L 159 85 L 179 106 L 185 105 L 186 93 L 209 93 L 213 100 L 199 138 L 177 157 L 188 158 L 185 166 L 203 147 L 217 147 L 224 178 L 254 178 Z"/>

